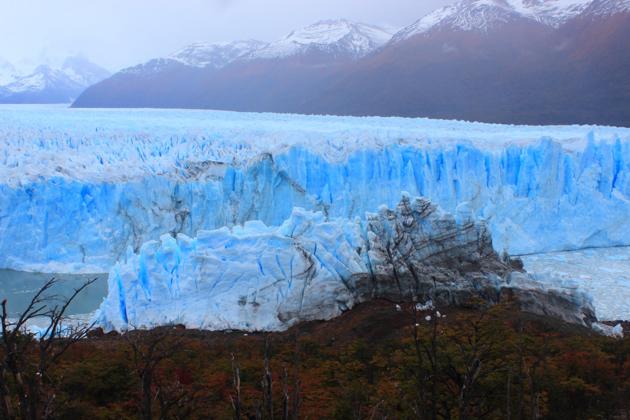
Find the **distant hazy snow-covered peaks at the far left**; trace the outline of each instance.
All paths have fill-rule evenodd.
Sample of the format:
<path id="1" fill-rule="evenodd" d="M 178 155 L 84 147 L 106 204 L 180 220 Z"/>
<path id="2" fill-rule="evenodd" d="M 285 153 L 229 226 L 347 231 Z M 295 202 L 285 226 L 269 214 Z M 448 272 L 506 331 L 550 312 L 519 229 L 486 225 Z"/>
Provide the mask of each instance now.
<path id="1" fill-rule="evenodd" d="M 69 103 L 88 86 L 110 76 L 110 72 L 88 59 L 76 55 L 67 57 L 58 68 L 40 64 L 22 76 L 8 62 L 0 64 L 7 69 L 1 74 L 0 103 Z"/>

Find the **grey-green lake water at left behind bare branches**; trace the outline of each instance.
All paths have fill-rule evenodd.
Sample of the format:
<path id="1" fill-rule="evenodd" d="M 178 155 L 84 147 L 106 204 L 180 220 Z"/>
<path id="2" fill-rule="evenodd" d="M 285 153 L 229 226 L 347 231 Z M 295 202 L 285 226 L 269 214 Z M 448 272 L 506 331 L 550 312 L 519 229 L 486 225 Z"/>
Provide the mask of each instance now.
<path id="1" fill-rule="evenodd" d="M 0 270 L 0 302 L 6 298 L 7 312 L 14 317 L 26 309 L 31 299 L 52 277 L 59 278 L 60 283 L 49 290 L 49 295 L 69 297 L 74 288 L 81 287 L 88 278 L 98 279 L 81 290 L 72 304 L 68 307 L 68 315 L 89 314 L 100 307 L 107 295 L 108 274 L 54 274 L 30 273 L 28 271 Z"/>

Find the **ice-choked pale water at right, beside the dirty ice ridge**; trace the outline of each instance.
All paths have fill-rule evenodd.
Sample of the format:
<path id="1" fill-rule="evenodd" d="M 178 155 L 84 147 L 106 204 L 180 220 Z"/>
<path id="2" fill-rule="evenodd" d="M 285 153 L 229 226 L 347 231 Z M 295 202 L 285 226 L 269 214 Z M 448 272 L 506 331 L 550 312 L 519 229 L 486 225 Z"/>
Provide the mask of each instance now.
<path id="1" fill-rule="evenodd" d="M 593 297 L 600 321 L 630 319 L 630 247 L 579 249 L 521 257 L 528 272 L 548 271 Z"/>

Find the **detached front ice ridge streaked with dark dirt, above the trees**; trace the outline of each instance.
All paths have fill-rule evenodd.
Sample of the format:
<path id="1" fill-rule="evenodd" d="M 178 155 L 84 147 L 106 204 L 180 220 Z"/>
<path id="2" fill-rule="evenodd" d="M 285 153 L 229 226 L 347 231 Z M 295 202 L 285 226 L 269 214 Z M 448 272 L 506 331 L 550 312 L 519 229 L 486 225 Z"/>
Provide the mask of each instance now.
<path id="1" fill-rule="evenodd" d="M 453 215 L 404 192 L 395 210 L 381 205 L 365 219 L 331 221 L 294 208 L 278 229 L 255 220 L 194 239 L 164 234 L 137 254 L 129 246 L 95 319 L 105 331 L 163 324 L 277 331 L 371 298 L 445 307 L 507 294 L 529 312 L 590 325 L 592 298 L 563 280 L 500 261 L 471 203 Z"/>

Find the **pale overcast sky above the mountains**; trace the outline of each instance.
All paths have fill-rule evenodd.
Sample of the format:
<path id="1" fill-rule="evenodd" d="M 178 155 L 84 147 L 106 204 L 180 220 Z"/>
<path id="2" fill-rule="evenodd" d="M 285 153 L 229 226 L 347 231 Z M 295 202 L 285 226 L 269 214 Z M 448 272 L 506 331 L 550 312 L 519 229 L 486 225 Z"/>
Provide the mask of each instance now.
<path id="1" fill-rule="evenodd" d="M 319 20 L 402 28 L 449 0 L 0 0 L 0 57 L 83 54 L 110 71 L 192 42 L 271 42 Z"/>

